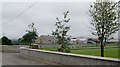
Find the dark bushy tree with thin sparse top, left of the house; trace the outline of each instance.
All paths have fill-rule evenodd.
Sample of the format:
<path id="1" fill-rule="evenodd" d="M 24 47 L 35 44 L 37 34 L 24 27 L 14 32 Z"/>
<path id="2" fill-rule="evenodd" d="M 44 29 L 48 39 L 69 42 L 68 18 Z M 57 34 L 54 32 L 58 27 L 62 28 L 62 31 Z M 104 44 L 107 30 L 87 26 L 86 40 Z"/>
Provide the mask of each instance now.
<path id="1" fill-rule="evenodd" d="M 18 41 L 28 43 L 29 45 L 31 45 L 32 43 L 35 43 L 35 40 L 37 39 L 38 35 L 37 30 L 34 27 L 34 23 L 29 24 L 28 27 L 29 30 L 26 30 L 27 33 L 23 35 L 22 38 L 19 38 Z"/>

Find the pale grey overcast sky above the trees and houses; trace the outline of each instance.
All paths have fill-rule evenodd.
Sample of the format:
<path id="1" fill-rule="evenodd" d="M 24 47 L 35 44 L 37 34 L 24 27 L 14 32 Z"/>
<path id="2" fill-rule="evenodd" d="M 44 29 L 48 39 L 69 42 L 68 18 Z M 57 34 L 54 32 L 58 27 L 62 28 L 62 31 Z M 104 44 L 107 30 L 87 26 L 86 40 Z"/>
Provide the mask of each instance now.
<path id="1" fill-rule="evenodd" d="M 26 30 L 29 29 L 28 25 L 32 22 L 35 23 L 39 36 L 51 35 L 52 31 L 55 30 L 56 17 L 62 19 L 63 12 L 66 11 L 69 11 L 68 17 L 71 19 L 69 22 L 71 28 L 68 34 L 72 37 L 92 37 L 89 28 L 91 18 L 88 15 L 90 4 L 92 3 L 89 1 L 2 2 L 2 6 L 0 6 L 2 7 L 2 9 L 0 8 L 2 11 L 0 13 L 2 15 L 2 19 L 0 19 L 2 21 L 0 32 L 2 33 L 0 33 L 0 37 L 4 33 L 10 39 L 18 39 L 26 33 Z M 29 8 L 31 5 L 33 6 Z M 117 38 L 118 33 L 114 37 Z"/>

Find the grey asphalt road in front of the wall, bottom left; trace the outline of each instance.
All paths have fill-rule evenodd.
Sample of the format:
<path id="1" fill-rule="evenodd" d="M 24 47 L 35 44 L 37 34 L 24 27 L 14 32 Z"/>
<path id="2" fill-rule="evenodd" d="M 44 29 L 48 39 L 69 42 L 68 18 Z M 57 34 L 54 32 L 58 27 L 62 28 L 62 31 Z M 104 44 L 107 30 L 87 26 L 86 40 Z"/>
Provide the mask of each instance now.
<path id="1" fill-rule="evenodd" d="M 21 57 L 19 53 L 2 53 L 2 65 L 56 65 L 47 61 L 36 61 Z"/>

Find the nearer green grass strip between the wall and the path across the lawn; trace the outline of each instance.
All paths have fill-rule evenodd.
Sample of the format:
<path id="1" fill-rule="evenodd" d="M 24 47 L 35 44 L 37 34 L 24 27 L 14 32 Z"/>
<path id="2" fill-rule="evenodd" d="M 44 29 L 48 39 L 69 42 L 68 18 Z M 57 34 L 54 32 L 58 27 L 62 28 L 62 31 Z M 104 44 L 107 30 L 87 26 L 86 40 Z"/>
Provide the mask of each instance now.
<path id="1" fill-rule="evenodd" d="M 74 54 L 100 56 L 100 49 L 89 49 L 89 50 L 71 50 Z M 120 58 L 118 56 L 118 48 L 105 49 L 105 57 Z"/>

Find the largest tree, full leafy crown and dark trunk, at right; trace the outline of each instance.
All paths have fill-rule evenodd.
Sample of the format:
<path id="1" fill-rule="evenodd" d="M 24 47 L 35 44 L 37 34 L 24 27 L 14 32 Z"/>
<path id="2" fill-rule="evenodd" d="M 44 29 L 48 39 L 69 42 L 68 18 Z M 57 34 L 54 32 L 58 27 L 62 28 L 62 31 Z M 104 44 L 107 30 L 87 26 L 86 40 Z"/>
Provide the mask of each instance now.
<path id="1" fill-rule="evenodd" d="M 91 25 L 93 35 L 98 36 L 101 44 L 101 57 L 104 57 L 104 46 L 107 40 L 119 30 L 118 3 L 113 1 L 97 0 L 90 6 Z"/>

